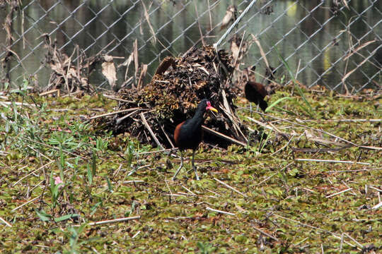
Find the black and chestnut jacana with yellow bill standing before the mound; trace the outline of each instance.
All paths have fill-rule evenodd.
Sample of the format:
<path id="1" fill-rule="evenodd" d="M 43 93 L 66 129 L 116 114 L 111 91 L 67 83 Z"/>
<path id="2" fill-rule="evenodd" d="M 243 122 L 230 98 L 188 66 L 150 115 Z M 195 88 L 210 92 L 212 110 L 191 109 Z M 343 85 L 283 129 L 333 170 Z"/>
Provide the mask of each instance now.
<path id="1" fill-rule="evenodd" d="M 197 176 L 197 169 L 194 164 L 195 150 L 202 141 L 202 123 L 204 121 L 204 112 L 207 110 L 212 110 L 217 112 L 217 110 L 211 106 L 211 102 L 207 99 L 202 99 L 197 105 L 197 110 L 192 119 L 187 119 L 176 126 L 174 131 L 175 145 L 179 147 L 180 150 L 180 166 L 173 176 L 173 181 L 176 175 L 178 175 L 180 169 L 183 167 L 183 150 L 192 149 L 192 168 L 195 171 L 196 179 L 199 180 Z"/>

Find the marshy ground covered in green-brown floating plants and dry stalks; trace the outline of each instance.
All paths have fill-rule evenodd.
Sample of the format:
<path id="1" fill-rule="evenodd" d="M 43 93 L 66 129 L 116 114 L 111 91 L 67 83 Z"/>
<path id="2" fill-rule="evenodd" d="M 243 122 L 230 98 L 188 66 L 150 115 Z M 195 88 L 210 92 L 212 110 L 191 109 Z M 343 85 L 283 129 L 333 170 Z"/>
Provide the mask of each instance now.
<path id="1" fill-rule="evenodd" d="M 285 99 L 265 120 L 253 114 L 261 125 L 248 119 L 245 99 L 236 99 L 243 123 L 268 137 L 227 150 L 201 145 L 200 181 L 191 152 L 170 181 L 176 152 L 128 134 L 96 135 L 83 120 L 116 106 L 102 95 L 3 94 L 0 217 L 8 226 L 1 222 L 1 250 L 381 252 L 381 95 L 303 93 L 313 118 Z M 302 103 L 291 87 L 268 102 L 282 97 Z M 124 217 L 135 219 L 91 224 Z"/>

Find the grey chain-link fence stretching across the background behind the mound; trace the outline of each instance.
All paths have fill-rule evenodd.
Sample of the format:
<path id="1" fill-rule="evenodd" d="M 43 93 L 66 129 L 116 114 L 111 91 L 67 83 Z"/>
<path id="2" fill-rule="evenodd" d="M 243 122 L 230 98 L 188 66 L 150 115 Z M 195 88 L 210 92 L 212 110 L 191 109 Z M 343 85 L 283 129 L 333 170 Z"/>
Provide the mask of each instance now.
<path id="1" fill-rule="evenodd" d="M 1 83 L 17 86 L 29 79 L 39 87 L 49 85 L 47 35 L 72 65 L 79 64 L 81 55 L 113 56 L 118 86 L 137 83 L 138 69 L 149 80 L 165 56 L 216 43 L 232 24 L 221 25 L 231 4 L 237 12 L 229 21 L 241 19 L 219 48 L 229 50 L 236 34 L 245 40 L 254 35 L 259 47 L 252 44 L 239 68 L 257 66 L 259 79 L 266 58 L 279 83 L 293 75 L 308 87 L 324 85 L 340 92 L 381 85 L 378 0 L 0 0 Z M 253 6 L 244 14 L 249 4 Z M 132 62 L 134 68 L 129 68 Z M 101 71 L 88 78 L 96 87 L 109 87 Z"/>

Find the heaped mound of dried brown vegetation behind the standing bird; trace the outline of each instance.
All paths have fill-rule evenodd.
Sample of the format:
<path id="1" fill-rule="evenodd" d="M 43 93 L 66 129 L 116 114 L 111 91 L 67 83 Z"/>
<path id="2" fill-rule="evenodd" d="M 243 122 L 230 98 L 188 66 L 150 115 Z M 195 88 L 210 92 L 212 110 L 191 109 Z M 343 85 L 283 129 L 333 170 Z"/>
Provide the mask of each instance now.
<path id="1" fill-rule="evenodd" d="M 144 88 L 120 90 L 119 113 L 97 119 L 97 126 L 115 134 L 128 132 L 144 143 L 171 147 L 175 126 L 192 117 L 198 102 L 207 98 L 219 113 L 204 122 L 211 128 L 204 131 L 214 134 L 204 135 L 204 141 L 221 147 L 243 143 L 247 131 L 235 114 L 232 72 L 232 56 L 224 50 L 216 53 L 211 46 L 191 49 L 180 58 L 167 57 Z"/>

